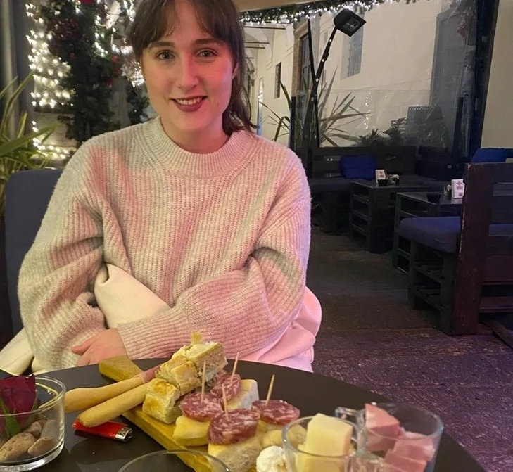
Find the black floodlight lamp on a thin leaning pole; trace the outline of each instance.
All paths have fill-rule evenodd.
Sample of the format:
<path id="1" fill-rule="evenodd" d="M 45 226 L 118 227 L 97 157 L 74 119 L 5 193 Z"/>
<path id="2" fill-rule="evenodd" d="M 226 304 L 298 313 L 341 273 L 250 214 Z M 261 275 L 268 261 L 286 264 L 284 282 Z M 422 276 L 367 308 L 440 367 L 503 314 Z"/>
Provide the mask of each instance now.
<path id="1" fill-rule="evenodd" d="M 319 67 L 317 68 L 317 72 L 315 73 L 315 77 L 312 83 L 312 90 L 310 91 L 310 96 L 308 97 L 308 105 L 306 108 L 303 130 L 311 129 L 313 112 L 315 109 L 315 101 L 317 97 L 317 89 L 319 88 L 319 81 L 322 76 L 322 71 L 324 70 L 324 63 L 326 63 L 326 60 L 329 56 L 329 49 L 331 48 L 331 43 L 333 42 L 336 32 L 341 31 L 348 36 L 353 36 L 355 32 L 360 30 L 360 28 L 365 25 L 365 20 L 358 16 L 354 11 L 342 10 L 336 15 L 333 23 L 335 26 L 331 32 L 331 36 L 328 39 L 326 47 L 324 48 L 324 53 L 322 53 Z M 308 177 L 312 177 L 312 160 L 310 159 L 310 133 L 305 131 L 303 131 L 303 139 L 301 141 L 300 158 L 303 161 L 303 164 L 306 163 L 306 172 Z"/>

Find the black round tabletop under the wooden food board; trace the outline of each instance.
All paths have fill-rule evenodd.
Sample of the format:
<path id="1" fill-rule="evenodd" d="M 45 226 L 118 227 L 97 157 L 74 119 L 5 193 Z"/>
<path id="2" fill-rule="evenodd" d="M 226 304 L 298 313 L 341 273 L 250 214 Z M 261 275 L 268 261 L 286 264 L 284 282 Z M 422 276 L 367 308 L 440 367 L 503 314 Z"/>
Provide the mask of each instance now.
<path id="1" fill-rule="evenodd" d="M 138 361 L 141 369 L 150 369 L 163 359 Z M 273 397 L 290 402 L 301 410 L 302 416 L 316 413 L 332 415 L 336 407 L 360 409 L 365 402 L 384 402 L 388 399 L 369 392 L 364 388 L 337 381 L 334 378 L 308 374 L 308 372 L 287 369 L 286 367 L 239 362 L 237 368 L 242 378 L 258 381 L 260 397 L 265 395 L 272 374 L 274 381 Z M 99 387 L 110 381 L 101 376 L 98 366 L 65 369 L 49 374 L 62 381 L 68 390 L 77 387 Z M 391 399 L 393 400 L 393 399 Z M 118 472 L 130 460 L 148 452 L 162 449 L 157 442 L 134 426 L 134 438 L 129 442 L 117 442 L 83 433 L 75 433 L 72 423 L 77 413 L 66 415 L 65 445 L 63 452 L 41 471 L 52 472 Z M 120 421 L 128 423 L 124 418 Z M 466 449 L 457 444 L 449 435 L 441 440 L 435 472 L 484 472 L 485 469 L 471 457 Z"/>

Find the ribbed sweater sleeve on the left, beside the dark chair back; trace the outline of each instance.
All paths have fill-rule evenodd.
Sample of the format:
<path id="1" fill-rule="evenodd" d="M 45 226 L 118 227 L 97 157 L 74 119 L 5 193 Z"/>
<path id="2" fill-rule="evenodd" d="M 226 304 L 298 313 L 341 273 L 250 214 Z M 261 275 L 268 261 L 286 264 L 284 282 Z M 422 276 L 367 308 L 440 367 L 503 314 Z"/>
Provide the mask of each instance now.
<path id="1" fill-rule="evenodd" d="M 78 357 L 70 348 L 105 329 L 91 293 L 101 267 L 102 224 L 91 204 L 94 183 L 84 160 L 86 146 L 63 170 L 18 279 L 27 337 L 48 369 L 74 366 Z"/>

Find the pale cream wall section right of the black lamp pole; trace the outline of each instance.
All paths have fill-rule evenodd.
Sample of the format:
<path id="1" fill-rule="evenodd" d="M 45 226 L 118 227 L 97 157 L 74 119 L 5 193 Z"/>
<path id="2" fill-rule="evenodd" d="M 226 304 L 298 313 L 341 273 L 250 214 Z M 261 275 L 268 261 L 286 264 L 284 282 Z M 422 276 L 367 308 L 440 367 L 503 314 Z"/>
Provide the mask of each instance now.
<path id="1" fill-rule="evenodd" d="M 443 0 L 399 2 L 369 11 L 363 28 L 361 70 L 352 77 L 346 75 L 350 37 L 336 34 L 324 75 L 327 82 L 335 77 L 330 101 L 350 93 L 355 96 L 353 106 L 369 113 L 357 122 L 339 122 L 341 128 L 353 135 L 374 128 L 383 131 L 392 120 L 405 117 L 408 107 L 429 104 L 436 19 L 444 4 Z M 332 15 L 323 15 L 321 53 L 323 39 L 332 28 Z M 331 106 L 327 111 L 331 112 Z"/>

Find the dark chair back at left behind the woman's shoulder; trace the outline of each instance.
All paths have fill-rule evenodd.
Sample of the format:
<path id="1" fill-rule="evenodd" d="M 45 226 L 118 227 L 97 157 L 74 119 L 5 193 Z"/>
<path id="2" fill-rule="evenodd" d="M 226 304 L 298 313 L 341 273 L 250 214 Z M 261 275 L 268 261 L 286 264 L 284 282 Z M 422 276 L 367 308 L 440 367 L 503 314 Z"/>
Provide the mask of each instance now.
<path id="1" fill-rule="evenodd" d="M 18 302 L 18 273 L 34 243 L 61 170 L 16 172 L 6 185 L 6 269 L 13 334 L 22 328 Z"/>

